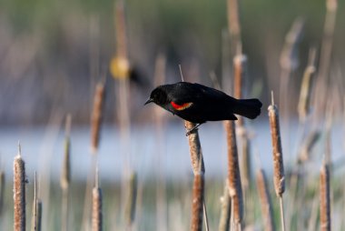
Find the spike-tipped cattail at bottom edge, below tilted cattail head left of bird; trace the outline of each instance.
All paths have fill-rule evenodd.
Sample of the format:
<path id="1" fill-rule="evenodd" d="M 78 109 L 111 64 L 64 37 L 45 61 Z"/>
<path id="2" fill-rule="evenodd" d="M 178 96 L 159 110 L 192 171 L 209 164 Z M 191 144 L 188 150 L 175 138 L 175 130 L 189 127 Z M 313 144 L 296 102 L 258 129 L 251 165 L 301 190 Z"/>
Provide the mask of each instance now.
<path id="1" fill-rule="evenodd" d="M 98 168 L 96 169 L 95 186 L 93 189 L 93 215 L 92 215 L 92 230 L 101 231 L 103 228 L 103 214 L 102 204 L 103 196 L 102 189 L 98 183 Z"/>

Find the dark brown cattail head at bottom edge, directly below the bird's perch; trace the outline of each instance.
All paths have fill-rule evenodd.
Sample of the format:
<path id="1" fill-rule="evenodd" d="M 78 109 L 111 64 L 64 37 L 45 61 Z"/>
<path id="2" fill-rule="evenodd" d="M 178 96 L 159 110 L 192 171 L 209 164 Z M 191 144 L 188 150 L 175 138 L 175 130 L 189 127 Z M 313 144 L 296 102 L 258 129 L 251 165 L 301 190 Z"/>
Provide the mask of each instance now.
<path id="1" fill-rule="evenodd" d="M 202 211 L 204 196 L 204 177 L 202 172 L 194 175 L 192 185 L 192 231 L 202 231 Z"/>

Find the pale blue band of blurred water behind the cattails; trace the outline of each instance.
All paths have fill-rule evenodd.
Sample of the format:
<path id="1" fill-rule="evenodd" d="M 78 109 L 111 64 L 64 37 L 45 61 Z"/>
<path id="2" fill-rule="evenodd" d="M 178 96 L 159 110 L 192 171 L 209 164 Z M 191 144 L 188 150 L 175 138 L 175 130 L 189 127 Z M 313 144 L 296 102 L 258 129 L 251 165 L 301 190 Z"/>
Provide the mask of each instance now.
<path id="1" fill-rule="evenodd" d="M 261 165 L 268 173 L 272 170 L 271 134 L 266 121 L 254 121 L 251 124 L 254 137 L 251 141 L 252 167 Z M 337 162 L 343 159 L 343 136 L 340 126 L 332 131 L 332 159 Z M 282 145 L 284 163 L 295 163 L 296 140 L 301 138 L 297 126 L 291 125 L 291 141 L 284 137 L 282 129 Z M 153 125 L 133 126 L 131 131 L 130 158 L 131 166 L 142 177 L 152 177 L 157 172 L 166 176 L 179 178 L 192 175 L 191 160 L 185 129 L 181 123 L 165 126 L 163 135 L 158 137 Z M 199 129 L 206 175 L 214 177 L 226 176 L 227 157 L 224 130 L 221 122 L 202 125 Z M 72 177 L 85 179 L 91 165 L 90 131 L 86 126 L 73 127 L 72 134 Z M 34 170 L 39 175 L 51 174 L 60 176 L 64 156 L 64 132 L 57 127 L 15 128 L 6 127 L 0 131 L 1 166 L 12 176 L 13 159 L 17 153 L 17 142 L 22 145 L 22 156 L 25 159 L 27 175 L 32 178 Z M 162 152 L 157 151 L 161 148 Z M 126 156 L 121 148 L 121 138 L 115 126 L 104 126 L 98 161 L 100 177 L 103 180 L 118 180 L 122 176 Z M 323 153 L 322 139 L 314 152 L 314 165 L 319 169 Z M 261 164 L 258 164 L 260 156 Z"/>

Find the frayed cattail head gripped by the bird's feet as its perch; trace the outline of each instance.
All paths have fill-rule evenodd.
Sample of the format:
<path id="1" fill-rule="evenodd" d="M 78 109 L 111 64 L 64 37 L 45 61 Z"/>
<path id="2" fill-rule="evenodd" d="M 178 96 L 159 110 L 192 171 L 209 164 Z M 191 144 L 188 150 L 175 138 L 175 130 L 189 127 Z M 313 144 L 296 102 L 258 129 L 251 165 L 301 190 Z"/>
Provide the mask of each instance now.
<path id="1" fill-rule="evenodd" d="M 192 122 L 185 121 L 184 125 L 187 130 L 192 129 L 195 126 Z M 197 130 L 194 130 L 191 135 L 188 136 L 189 148 L 191 153 L 192 159 L 192 171 L 194 175 L 200 172 L 200 168 L 202 173 L 205 173 L 205 167 L 203 165 L 202 159 L 202 146 L 200 145 L 199 134 Z M 200 163 L 200 161 L 202 163 Z"/>

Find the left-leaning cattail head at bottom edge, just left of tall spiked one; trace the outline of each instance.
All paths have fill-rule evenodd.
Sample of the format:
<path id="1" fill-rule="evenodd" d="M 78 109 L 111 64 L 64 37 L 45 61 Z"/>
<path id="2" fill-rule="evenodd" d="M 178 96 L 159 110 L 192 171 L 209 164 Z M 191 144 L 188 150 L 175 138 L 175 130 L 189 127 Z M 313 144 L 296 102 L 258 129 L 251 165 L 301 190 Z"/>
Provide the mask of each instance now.
<path id="1" fill-rule="evenodd" d="M 258 187 L 260 202 L 261 202 L 261 214 L 264 221 L 264 230 L 275 230 L 274 218 L 272 213 L 271 196 L 267 185 L 267 177 L 263 169 L 260 169 L 256 174 L 256 185 Z"/>

